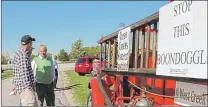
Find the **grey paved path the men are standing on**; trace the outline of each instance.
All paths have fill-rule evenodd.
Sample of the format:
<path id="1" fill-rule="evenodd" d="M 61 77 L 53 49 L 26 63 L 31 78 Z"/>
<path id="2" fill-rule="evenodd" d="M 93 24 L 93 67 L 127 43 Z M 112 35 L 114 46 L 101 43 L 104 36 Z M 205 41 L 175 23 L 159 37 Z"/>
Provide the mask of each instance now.
<path id="1" fill-rule="evenodd" d="M 61 71 L 65 70 L 73 70 L 74 64 L 59 64 L 59 71 L 61 74 Z M 1 95 L 2 95 L 2 106 L 19 106 L 19 97 L 18 95 L 12 95 L 10 96 L 9 93 L 11 92 L 14 85 L 12 84 L 12 78 L 2 81 L 2 89 L 1 89 Z M 58 80 L 58 88 L 55 89 L 56 94 L 56 106 L 69 106 L 68 100 L 65 96 L 65 90 L 62 90 L 63 84 L 62 84 L 62 76 L 59 75 Z"/>

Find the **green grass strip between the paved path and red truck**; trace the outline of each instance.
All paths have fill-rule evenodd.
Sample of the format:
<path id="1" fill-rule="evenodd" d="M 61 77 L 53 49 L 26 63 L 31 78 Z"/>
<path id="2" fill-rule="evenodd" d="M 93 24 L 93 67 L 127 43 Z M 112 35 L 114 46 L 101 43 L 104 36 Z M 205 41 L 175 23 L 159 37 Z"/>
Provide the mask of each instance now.
<path id="1" fill-rule="evenodd" d="M 87 105 L 87 95 L 89 92 L 88 83 L 91 78 L 89 75 L 79 76 L 74 71 L 64 71 L 65 76 L 68 78 L 67 87 L 74 86 L 72 89 L 72 97 L 75 103 L 79 106 Z"/>

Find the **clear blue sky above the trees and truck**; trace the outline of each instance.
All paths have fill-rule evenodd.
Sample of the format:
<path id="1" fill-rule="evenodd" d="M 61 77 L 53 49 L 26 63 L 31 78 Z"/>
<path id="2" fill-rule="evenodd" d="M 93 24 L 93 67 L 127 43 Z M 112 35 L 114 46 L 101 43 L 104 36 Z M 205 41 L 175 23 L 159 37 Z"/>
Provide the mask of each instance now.
<path id="1" fill-rule="evenodd" d="M 135 23 L 168 2 L 2 1 L 2 52 L 15 52 L 25 34 L 36 39 L 34 53 L 41 44 L 50 53 L 69 53 L 78 39 L 83 46 L 97 46 L 100 36 L 115 32 L 120 23 Z"/>

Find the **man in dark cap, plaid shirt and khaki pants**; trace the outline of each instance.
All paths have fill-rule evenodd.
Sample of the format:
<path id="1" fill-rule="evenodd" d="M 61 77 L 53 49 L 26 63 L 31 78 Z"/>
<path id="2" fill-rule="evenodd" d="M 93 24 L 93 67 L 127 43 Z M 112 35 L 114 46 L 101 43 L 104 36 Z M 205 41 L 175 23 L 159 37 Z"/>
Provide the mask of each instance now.
<path id="1" fill-rule="evenodd" d="M 29 35 L 21 39 L 21 48 L 14 54 L 12 67 L 14 72 L 13 84 L 20 95 L 22 106 L 37 106 L 35 97 L 35 81 L 31 68 L 30 54 L 32 53 L 32 42 L 35 41 Z"/>

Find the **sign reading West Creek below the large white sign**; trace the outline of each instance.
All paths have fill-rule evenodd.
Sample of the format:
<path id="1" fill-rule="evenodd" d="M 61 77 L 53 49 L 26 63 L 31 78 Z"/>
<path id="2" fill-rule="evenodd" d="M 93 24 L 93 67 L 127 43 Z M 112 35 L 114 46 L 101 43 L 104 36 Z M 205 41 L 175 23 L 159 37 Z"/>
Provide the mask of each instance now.
<path id="1" fill-rule="evenodd" d="M 207 94 L 207 85 L 176 81 L 174 102 L 183 106 L 207 107 L 208 97 L 204 94 Z"/>

